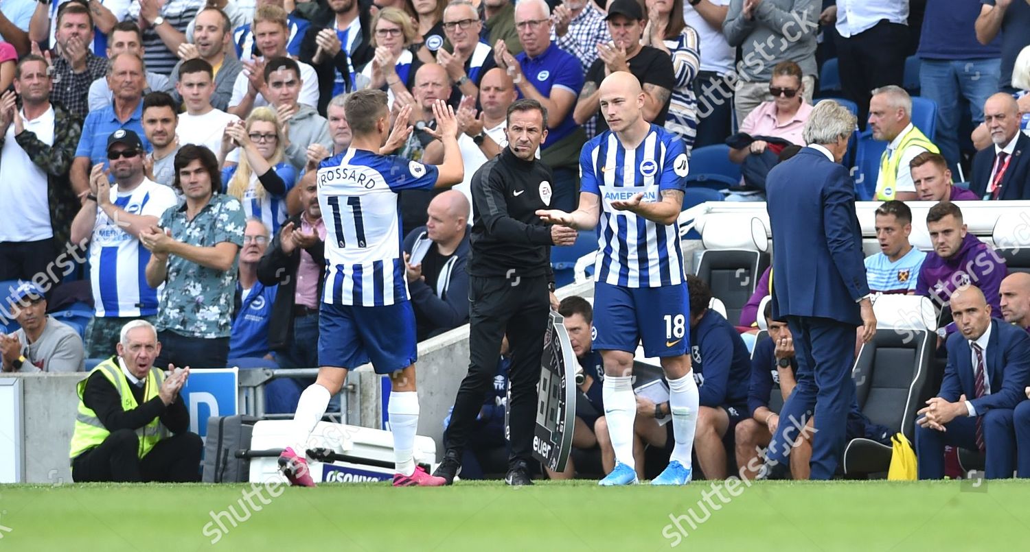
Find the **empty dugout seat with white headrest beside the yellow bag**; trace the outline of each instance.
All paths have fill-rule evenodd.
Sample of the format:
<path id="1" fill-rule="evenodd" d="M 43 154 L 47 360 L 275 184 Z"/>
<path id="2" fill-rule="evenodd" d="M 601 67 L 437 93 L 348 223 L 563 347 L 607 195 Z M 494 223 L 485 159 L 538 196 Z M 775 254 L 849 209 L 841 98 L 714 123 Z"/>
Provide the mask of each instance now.
<path id="1" fill-rule="evenodd" d="M 858 406 L 873 424 L 915 442 L 916 412 L 927 394 L 937 335 L 936 310 L 927 297 L 883 295 L 872 304 L 877 333 L 862 345 L 852 376 Z M 893 435 L 892 433 L 892 435 Z M 852 439 L 842 458 L 848 477 L 886 473 L 890 445 Z"/>

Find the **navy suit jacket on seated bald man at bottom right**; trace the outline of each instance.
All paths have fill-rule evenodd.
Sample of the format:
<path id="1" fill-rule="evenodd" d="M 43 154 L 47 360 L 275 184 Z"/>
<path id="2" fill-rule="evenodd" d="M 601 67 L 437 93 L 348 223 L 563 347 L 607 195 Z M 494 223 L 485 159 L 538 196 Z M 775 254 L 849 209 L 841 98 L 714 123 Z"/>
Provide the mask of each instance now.
<path id="1" fill-rule="evenodd" d="M 991 394 L 980 399 L 973 398 L 976 385 L 969 340 L 956 332 L 948 338 L 947 346 L 948 367 L 937 397 L 955 402 L 965 395 L 981 416 L 992 408 L 1015 408 L 1026 399 L 1023 389 L 1030 383 L 1030 336 L 1023 328 L 991 319 L 984 361 Z"/>

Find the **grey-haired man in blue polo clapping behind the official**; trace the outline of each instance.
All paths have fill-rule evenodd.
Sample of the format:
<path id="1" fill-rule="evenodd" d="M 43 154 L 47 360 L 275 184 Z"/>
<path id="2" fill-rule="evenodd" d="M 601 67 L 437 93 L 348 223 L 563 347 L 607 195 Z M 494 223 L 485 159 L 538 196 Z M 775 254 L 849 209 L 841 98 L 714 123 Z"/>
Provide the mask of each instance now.
<path id="1" fill-rule="evenodd" d="M 487 28 L 490 28 L 489 12 L 487 6 Z M 586 134 L 573 117 L 576 99 L 583 88 L 583 70 L 579 60 L 551 42 L 550 15 L 545 0 L 519 2 L 515 7 L 515 28 L 523 50 L 515 54 L 506 42 L 496 42 L 493 60 L 497 67 L 509 72 L 520 98 L 536 100 L 544 106 L 548 134 L 541 145 L 541 159 L 554 174 L 550 207 L 573 211 L 579 189 L 579 155 L 586 142 Z M 491 37 L 491 40 L 496 39 Z"/>

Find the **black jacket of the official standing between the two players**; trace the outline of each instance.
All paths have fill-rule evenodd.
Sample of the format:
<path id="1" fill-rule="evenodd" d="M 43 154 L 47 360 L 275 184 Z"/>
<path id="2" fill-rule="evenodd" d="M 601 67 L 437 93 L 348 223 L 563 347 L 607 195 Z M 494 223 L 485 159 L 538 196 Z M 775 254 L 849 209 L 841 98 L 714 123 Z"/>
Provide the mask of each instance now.
<path id="1" fill-rule="evenodd" d="M 525 161 L 504 148 L 472 177 L 475 219 L 469 274 L 474 277 L 547 275 L 551 271 L 550 226 L 537 216 L 554 194 L 551 169 Z M 547 201 L 542 196 L 547 197 Z"/>

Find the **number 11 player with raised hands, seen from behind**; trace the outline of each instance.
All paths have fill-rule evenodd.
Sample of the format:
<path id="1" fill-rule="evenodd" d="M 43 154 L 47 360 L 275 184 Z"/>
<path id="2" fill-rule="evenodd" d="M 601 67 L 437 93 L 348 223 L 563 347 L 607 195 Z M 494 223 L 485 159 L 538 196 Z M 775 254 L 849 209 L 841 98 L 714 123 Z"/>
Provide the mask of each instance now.
<path id="1" fill-rule="evenodd" d="M 393 486 L 442 485 L 415 466 L 412 454 L 418 426 L 415 393 L 415 315 L 401 248 L 398 192 L 449 187 L 461 182 L 464 165 L 455 133 L 454 112 L 443 102 L 433 106 L 444 145 L 439 168 L 380 155 L 389 133 L 386 94 L 360 90 L 347 98 L 344 113 L 353 134 L 350 147 L 321 162 L 317 172 L 318 205 L 325 219 L 325 286 L 318 319 L 317 380 L 301 395 L 294 415 L 296 434 L 305 443 L 340 391 L 347 370 L 367 362 L 388 374 L 389 426 L 393 434 L 397 473 Z M 394 134 L 410 133 L 406 108 Z M 393 137 L 390 137 L 391 139 Z M 310 174 L 305 178 L 315 178 Z M 302 184 L 303 185 L 303 184 Z M 303 450 L 303 449 L 302 449 Z M 313 486 L 307 461 L 293 447 L 279 466 L 295 485 Z"/>

